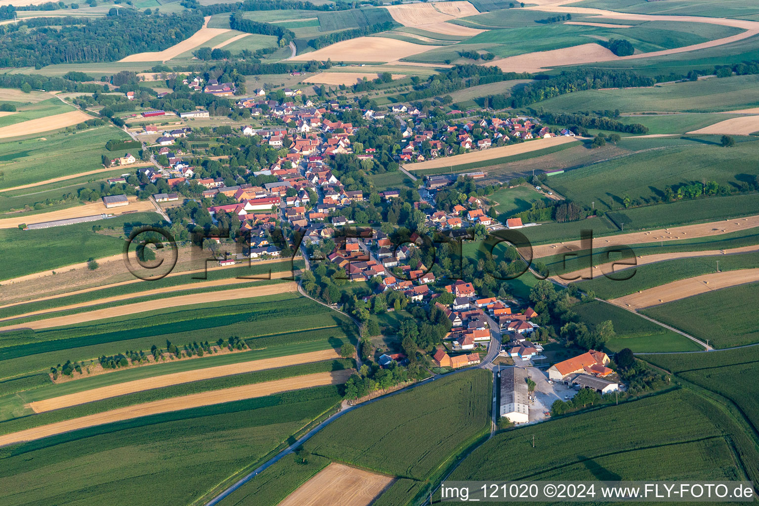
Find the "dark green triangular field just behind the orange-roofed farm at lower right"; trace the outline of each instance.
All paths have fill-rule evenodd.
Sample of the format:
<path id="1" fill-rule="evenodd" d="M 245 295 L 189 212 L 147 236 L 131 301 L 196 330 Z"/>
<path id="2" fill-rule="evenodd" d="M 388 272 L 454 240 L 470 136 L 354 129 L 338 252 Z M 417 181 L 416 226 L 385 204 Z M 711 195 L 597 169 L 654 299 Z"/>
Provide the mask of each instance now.
<path id="1" fill-rule="evenodd" d="M 609 351 L 630 348 L 635 353 L 660 351 L 698 351 L 702 348 L 684 335 L 649 322 L 628 310 L 609 303 L 593 300 L 572 307 L 578 313 L 580 321 L 588 328 L 606 320 L 614 324 L 616 337 L 606 343 Z"/>

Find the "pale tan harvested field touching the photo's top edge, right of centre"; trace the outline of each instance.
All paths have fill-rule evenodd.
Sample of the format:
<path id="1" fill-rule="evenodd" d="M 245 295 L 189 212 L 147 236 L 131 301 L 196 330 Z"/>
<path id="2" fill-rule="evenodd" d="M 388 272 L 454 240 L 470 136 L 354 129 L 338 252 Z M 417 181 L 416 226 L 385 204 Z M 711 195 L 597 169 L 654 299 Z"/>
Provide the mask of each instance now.
<path id="1" fill-rule="evenodd" d="M 416 27 L 446 35 L 473 36 L 484 30 L 446 23 L 459 17 L 480 14 L 469 2 L 430 2 L 419 4 L 386 5 L 392 18 L 406 27 Z"/>

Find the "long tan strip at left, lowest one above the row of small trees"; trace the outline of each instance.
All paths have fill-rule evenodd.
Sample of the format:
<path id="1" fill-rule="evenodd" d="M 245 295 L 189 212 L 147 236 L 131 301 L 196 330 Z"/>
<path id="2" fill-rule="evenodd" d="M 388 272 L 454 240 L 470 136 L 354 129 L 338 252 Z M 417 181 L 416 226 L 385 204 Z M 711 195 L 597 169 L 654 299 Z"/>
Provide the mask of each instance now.
<path id="1" fill-rule="evenodd" d="M 247 297 L 262 297 L 263 295 L 283 294 L 289 291 L 295 291 L 298 284 L 294 281 L 279 284 L 266 284 L 263 286 L 250 286 L 245 288 L 232 288 L 225 291 L 213 291 L 205 294 L 179 295 L 178 297 L 168 297 L 166 299 L 150 300 L 147 302 L 138 302 L 126 306 L 107 307 L 102 310 L 94 310 L 87 313 L 77 313 L 67 316 L 57 316 L 55 318 L 37 320 L 35 322 L 26 322 L 19 325 L 8 325 L 2 330 L 11 330 L 12 328 L 50 328 L 60 327 L 61 325 L 74 325 L 77 323 L 93 322 L 99 319 L 113 318 L 115 316 L 131 315 L 134 313 L 143 313 L 145 311 L 162 310 L 167 307 L 187 306 L 190 304 L 201 304 L 219 302 L 222 300 L 237 300 Z M 83 303 L 87 306 L 90 303 Z"/>

